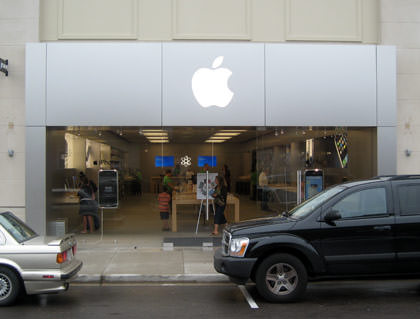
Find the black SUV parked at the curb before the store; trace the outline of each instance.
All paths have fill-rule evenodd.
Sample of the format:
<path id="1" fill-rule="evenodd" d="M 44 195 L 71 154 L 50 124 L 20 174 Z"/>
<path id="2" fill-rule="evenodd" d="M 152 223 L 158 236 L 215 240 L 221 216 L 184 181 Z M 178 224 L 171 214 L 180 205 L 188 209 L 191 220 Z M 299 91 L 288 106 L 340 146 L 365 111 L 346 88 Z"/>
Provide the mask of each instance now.
<path id="1" fill-rule="evenodd" d="M 227 227 L 215 269 L 272 302 L 308 279 L 420 274 L 420 175 L 331 187 L 278 217 Z"/>

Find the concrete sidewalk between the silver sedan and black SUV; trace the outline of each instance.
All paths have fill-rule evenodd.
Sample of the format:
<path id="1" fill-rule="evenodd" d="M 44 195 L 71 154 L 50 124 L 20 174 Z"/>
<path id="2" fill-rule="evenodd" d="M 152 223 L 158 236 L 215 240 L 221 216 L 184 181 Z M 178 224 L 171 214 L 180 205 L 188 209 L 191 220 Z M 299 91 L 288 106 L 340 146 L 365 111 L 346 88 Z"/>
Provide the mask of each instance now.
<path id="1" fill-rule="evenodd" d="M 214 247 L 171 247 L 162 236 L 77 235 L 76 282 L 228 282 L 213 268 Z"/>

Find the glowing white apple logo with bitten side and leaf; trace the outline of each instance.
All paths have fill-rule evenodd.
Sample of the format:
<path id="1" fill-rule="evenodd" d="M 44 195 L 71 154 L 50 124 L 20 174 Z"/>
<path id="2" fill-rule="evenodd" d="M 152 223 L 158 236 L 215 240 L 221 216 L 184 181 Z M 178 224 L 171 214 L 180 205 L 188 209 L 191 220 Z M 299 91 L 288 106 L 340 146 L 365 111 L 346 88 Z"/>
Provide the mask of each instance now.
<path id="1" fill-rule="evenodd" d="M 202 107 L 226 107 L 233 98 L 233 92 L 228 88 L 228 80 L 232 71 L 219 68 L 223 56 L 214 59 L 212 69 L 200 68 L 192 77 L 194 97 Z"/>

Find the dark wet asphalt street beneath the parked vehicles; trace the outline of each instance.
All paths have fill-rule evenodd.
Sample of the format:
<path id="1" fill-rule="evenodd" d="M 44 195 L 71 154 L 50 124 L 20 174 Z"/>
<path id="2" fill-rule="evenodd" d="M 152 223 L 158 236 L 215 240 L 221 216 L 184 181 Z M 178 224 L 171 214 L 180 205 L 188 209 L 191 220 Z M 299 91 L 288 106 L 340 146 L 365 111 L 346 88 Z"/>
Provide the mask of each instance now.
<path id="1" fill-rule="evenodd" d="M 317 282 L 298 303 L 271 304 L 253 285 L 251 308 L 233 284 L 73 285 L 23 296 L 1 318 L 419 318 L 420 280 Z"/>

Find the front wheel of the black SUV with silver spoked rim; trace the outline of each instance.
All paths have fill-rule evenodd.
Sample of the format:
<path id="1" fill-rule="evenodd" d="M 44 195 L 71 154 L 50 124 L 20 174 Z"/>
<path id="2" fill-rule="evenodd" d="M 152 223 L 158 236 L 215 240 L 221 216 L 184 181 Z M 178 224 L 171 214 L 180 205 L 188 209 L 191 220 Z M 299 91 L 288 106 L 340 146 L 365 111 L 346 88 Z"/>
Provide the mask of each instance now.
<path id="1" fill-rule="evenodd" d="M 256 284 L 259 294 L 271 302 L 291 302 L 305 293 L 308 275 L 302 262 L 289 254 L 267 257 L 258 266 Z"/>

